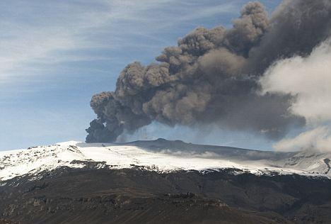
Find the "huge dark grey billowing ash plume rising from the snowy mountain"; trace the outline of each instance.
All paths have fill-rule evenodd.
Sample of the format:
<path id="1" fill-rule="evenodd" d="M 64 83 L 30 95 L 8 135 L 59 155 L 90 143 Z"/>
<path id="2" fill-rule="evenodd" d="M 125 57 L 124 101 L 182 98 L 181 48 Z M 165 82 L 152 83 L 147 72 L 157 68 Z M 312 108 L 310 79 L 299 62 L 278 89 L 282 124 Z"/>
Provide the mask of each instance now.
<path id="1" fill-rule="evenodd" d="M 280 138 L 306 118 L 291 113 L 293 94 L 260 94 L 260 77 L 279 59 L 310 55 L 330 28 L 330 0 L 284 1 L 271 18 L 262 4 L 248 3 L 233 28 L 197 28 L 165 47 L 158 63 L 127 65 L 115 91 L 93 96 L 98 118 L 86 142 L 112 142 L 152 121 L 216 123 Z"/>

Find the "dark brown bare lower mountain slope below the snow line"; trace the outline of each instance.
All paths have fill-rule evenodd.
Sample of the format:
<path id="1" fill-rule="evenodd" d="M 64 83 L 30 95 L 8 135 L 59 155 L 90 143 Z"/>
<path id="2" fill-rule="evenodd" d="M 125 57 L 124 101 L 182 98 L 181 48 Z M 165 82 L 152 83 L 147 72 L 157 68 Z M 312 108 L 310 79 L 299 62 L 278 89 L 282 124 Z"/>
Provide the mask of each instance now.
<path id="1" fill-rule="evenodd" d="M 331 181 L 322 177 L 93 166 L 2 182 L 0 217 L 20 223 L 331 221 Z"/>

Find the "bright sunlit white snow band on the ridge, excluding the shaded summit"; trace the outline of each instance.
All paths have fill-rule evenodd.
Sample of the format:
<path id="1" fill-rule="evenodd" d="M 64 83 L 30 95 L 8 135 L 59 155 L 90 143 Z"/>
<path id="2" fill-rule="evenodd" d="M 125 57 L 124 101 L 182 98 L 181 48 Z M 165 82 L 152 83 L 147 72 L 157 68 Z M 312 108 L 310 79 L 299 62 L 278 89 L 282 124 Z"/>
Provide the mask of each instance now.
<path id="1" fill-rule="evenodd" d="M 259 153 L 259 152 L 254 152 Z M 263 153 L 263 152 L 261 152 Z M 323 155 L 301 155 L 269 161 L 267 159 L 233 159 L 215 152 L 173 153 L 169 150 L 153 151 L 127 144 L 87 144 L 61 142 L 55 145 L 29 147 L 26 150 L 0 152 L 0 181 L 25 174 L 38 174 L 58 167 L 85 167 L 85 162 L 104 162 L 111 169 L 143 166 L 159 172 L 175 170 L 207 170 L 235 168 L 252 174 L 305 174 L 328 176 Z M 305 160 L 306 159 L 306 160 Z M 308 159 L 308 160 L 307 160 Z M 326 160 L 327 161 L 327 160 Z M 105 167 L 98 165 L 97 168 Z"/>

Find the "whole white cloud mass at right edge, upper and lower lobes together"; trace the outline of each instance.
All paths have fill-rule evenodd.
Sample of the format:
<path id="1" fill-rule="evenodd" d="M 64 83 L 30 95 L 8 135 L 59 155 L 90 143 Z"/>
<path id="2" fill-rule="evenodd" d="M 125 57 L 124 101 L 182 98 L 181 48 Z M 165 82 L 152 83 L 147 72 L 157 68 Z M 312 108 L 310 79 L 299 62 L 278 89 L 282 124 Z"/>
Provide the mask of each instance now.
<path id="1" fill-rule="evenodd" d="M 262 94 L 267 92 L 296 96 L 291 113 L 306 118 L 308 125 L 320 125 L 296 138 L 284 139 L 275 150 L 331 151 L 331 41 L 327 40 L 308 57 L 279 60 L 260 79 Z"/>

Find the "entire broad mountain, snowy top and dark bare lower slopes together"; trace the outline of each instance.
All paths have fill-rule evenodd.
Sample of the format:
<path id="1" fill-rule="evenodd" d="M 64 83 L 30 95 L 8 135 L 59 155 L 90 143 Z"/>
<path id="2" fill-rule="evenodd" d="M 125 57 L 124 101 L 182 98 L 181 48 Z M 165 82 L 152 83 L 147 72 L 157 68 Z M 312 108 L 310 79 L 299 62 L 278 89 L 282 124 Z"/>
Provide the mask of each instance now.
<path id="1" fill-rule="evenodd" d="M 0 152 L 0 223 L 330 223 L 329 158 L 163 139 Z"/>

